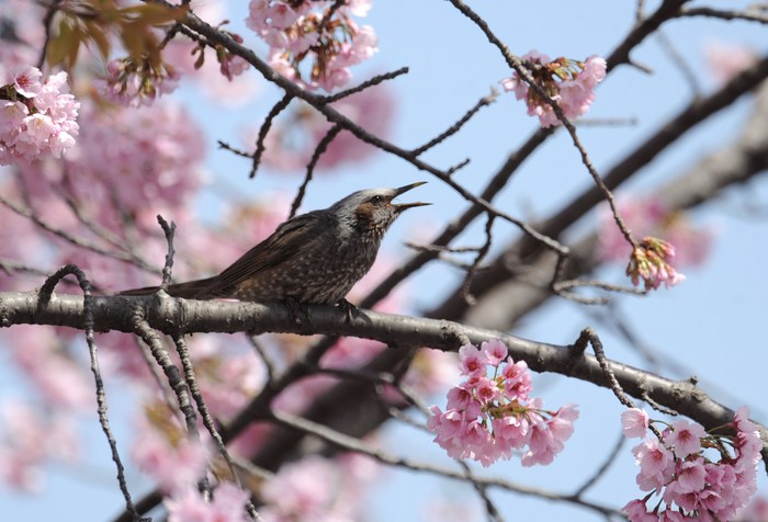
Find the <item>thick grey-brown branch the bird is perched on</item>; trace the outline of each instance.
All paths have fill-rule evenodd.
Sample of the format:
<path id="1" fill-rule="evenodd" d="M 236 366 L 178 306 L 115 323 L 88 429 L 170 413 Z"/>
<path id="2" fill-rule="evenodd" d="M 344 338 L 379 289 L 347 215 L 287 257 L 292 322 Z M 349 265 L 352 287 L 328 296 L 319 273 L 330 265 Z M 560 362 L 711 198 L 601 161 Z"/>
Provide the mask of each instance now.
<path id="1" fill-rule="evenodd" d="M 140 309 L 145 328 L 162 332 L 293 332 L 353 336 L 376 339 L 392 345 L 422 345 L 455 351 L 460 332 L 473 344 L 499 339 L 516 360 L 524 360 L 535 372 L 551 372 L 576 377 L 608 387 L 609 382 L 594 356 L 575 354 L 566 345 L 531 341 L 494 330 L 456 322 L 418 317 L 397 316 L 364 310 L 348 320 L 332 306 L 310 306 L 309 320 L 296 325 L 290 310 L 282 305 L 258 303 L 200 302 L 153 296 L 149 298 L 94 297 L 93 328 L 95 331 L 136 329 L 135 313 Z M 82 299 L 74 295 L 54 295 L 45 304 L 37 293 L 0 293 L 0 326 L 55 325 L 81 329 L 84 319 Z M 144 321 L 143 321 L 144 322 Z M 697 420 L 705 428 L 733 420 L 734 411 L 712 400 L 690 382 L 673 382 L 632 366 L 608 362 L 622 388 L 642 399 L 644 394 L 665 407 Z M 763 440 L 768 431 L 760 425 Z M 234 433 L 227 433 L 230 439 Z"/>

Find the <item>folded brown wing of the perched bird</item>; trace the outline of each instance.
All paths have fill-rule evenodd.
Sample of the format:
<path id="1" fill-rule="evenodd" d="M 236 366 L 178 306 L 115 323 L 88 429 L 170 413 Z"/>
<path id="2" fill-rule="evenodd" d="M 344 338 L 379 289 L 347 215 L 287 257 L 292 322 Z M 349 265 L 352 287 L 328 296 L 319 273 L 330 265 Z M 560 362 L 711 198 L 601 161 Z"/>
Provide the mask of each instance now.
<path id="1" fill-rule="evenodd" d="M 302 248 L 306 248 L 317 238 L 326 219 L 327 215 L 318 211 L 289 219 L 218 276 L 212 277 L 213 283 L 202 293 L 210 296 L 229 296 L 238 283 L 297 256 Z"/>

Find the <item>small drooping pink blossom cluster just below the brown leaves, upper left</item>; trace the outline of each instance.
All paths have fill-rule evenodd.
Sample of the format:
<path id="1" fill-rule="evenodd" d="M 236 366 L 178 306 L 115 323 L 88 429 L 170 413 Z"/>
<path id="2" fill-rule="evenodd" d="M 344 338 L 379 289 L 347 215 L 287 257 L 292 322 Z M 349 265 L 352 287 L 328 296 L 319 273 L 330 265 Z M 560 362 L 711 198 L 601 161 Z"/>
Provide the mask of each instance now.
<path id="1" fill-rule="evenodd" d="M 106 75 L 98 83 L 100 92 L 125 106 L 151 105 L 156 98 L 173 92 L 180 78 L 172 66 L 148 56 L 113 59 L 106 65 Z"/>

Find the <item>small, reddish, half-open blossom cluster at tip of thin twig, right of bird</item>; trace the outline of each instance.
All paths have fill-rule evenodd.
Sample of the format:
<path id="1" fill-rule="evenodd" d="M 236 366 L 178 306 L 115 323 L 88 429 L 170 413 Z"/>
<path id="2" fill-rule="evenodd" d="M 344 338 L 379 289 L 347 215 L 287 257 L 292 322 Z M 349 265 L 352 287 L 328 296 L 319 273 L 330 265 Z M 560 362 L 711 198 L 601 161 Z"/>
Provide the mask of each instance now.
<path id="1" fill-rule="evenodd" d="M 632 284 L 645 283 L 645 290 L 656 290 L 662 283 L 668 288 L 682 283 L 686 276 L 678 273 L 670 262 L 675 259 L 675 247 L 667 241 L 646 236 L 632 251 L 626 265 L 626 275 Z"/>

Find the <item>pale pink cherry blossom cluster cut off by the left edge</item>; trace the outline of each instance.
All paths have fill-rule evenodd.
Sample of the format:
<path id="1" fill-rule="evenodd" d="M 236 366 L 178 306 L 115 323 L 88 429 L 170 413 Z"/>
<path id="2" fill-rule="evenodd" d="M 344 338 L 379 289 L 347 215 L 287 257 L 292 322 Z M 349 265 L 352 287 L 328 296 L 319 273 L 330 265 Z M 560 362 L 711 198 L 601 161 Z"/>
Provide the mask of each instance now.
<path id="1" fill-rule="evenodd" d="M 60 158 L 79 132 L 80 103 L 66 92 L 67 73 L 43 82 L 39 69 L 26 67 L 11 76 L 0 87 L 0 164 Z"/>

